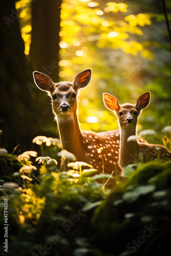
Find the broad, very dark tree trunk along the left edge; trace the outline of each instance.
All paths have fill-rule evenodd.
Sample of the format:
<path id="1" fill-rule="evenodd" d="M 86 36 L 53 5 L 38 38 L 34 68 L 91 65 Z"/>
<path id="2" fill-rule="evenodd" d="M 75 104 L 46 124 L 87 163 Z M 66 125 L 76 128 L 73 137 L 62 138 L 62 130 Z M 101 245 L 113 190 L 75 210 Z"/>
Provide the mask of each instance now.
<path id="1" fill-rule="evenodd" d="M 50 102 L 48 98 L 43 100 L 41 92 L 34 85 L 33 69 L 24 53 L 25 45 L 18 24 L 19 15 L 14 0 L 1 1 L 0 129 L 3 130 L 2 141 L 8 145 L 9 152 L 17 144 L 21 144 L 22 151 L 30 148 L 32 139 L 42 131 L 45 132 L 42 119 L 45 120 L 46 116 L 51 116 L 46 127 L 54 126 L 51 109 L 41 108 L 41 103 Z"/>

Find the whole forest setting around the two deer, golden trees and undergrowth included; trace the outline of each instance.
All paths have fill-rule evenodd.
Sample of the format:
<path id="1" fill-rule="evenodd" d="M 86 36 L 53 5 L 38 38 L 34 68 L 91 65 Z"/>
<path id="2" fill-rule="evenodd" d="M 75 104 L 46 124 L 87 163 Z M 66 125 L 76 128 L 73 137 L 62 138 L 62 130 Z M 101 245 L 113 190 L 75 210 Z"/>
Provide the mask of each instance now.
<path id="1" fill-rule="evenodd" d="M 168 254 L 171 162 L 126 166 L 113 188 L 96 182 L 109 178 L 105 170 L 89 177 L 82 162 L 60 172 L 58 139 L 44 147 L 42 139 L 32 143 L 36 136 L 58 137 L 50 97 L 35 86 L 32 72 L 72 82 L 91 68 L 78 109 L 81 128 L 95 132 L 118 128 L 104 92 L 135 103 L 151 91 L 138 133 L 171 149 L 170 11 L 169 0 L 0 2 L 0 147 L 12 153 L 0 161 L 0 226 L 8 226 L 8 241 L 6 230 L 0 236 L 7 247 L 0 247 L 1 255 Z"/>

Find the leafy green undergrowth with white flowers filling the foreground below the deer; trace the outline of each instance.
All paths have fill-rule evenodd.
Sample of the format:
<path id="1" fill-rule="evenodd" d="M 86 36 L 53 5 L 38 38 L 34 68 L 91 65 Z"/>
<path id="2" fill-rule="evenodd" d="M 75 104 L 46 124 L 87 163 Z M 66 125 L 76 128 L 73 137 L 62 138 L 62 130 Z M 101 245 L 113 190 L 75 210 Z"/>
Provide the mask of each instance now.
<path id="1" fill-rule="evenodd" d="M 126 179 L 110 189 L 96 182 L 98 175 L 74 177 L 47 162 L 37 183 L 28 167 L 23 177 L 13 176 L 14 182 L 24 180 L 19 188 L 3 185 L 0 209 L 3 216 L 8 199 L 9 255 L 167 255 L 171 161 L 139 164 L 136 170 L 130 166 Z M 4 249 L 1 255 L 7 254 Z"/>

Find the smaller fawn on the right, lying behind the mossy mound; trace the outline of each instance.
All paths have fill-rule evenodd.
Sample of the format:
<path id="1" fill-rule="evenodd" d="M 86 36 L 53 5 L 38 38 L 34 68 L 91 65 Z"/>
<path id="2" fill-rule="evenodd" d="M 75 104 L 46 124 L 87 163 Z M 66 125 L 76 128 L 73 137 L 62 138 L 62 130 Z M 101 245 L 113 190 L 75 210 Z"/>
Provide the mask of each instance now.
<path id="1" fill-rule="evenodd" d="M 171 159 L 171 152 L 162 145 L 146 144 L 129 139 L 130 136 L 136 135 L 137 119 L 149 104 L 149 92 L 139 96 L 135 105 L 128 103 L 119 105 L 118 100 L 108 93 L 103 94 L 103 101 L 106 108 L 115 111 L 119 120 L 121 131 L 119 165 L 121 167 L 132 164 L 134 161 L 140 161 L 141 158 L 144 162 L 154 160 L 158 155 L 163 160 Z M 142 157 L 140 157 L 141 155 Z"/>

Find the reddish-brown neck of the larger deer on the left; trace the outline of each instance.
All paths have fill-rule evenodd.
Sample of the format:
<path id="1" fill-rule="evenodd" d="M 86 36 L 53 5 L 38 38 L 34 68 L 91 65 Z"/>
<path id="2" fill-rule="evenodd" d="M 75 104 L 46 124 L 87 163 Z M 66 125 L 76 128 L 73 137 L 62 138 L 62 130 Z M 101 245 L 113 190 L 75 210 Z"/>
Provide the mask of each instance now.
<path id="1" fill-rule="evenodd" d="M 77 155 L 83 154 L 82 135 L 76 113 L 58 115 L 57 124 L 62 144 L 62 150 Z"/>

